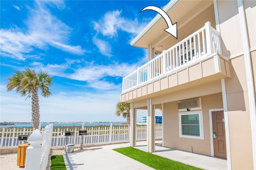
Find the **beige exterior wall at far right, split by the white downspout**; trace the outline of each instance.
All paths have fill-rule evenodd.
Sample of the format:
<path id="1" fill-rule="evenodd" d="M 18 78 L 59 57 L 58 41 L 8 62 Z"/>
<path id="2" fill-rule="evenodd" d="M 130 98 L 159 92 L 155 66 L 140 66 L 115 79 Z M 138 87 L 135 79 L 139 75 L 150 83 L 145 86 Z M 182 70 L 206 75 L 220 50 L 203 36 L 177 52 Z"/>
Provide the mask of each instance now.
<path id="1" fill-rule="evenodd" d="M 231 167 L 232 169 L 253 169 L 248 87 L 238 4 L 236 0 L 217 0 L 217 4 L 222 37 L 222 54 L 230 57 L 232 67 L 232 78 L 225 80 Z M 256 1 L 244 0 L 243 4 L 255 89 L 256 52 L 253 50 L 256 48 Z"/>

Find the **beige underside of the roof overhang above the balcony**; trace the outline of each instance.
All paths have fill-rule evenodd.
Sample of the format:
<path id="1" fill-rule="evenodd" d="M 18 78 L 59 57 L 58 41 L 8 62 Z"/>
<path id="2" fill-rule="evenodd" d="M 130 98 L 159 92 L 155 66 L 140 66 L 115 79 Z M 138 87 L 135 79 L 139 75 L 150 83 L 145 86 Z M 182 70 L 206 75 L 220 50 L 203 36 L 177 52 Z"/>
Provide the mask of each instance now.
<path id="1" fill-rule="evenodd" d="M 208 9 L 209 8 L 209 9 Z M 211 10 L 211 12 L 208 12 Z M 213 12 L 212 12 L 213 10 Z M 164 31 L 164 29 L 167 28 L 166 21 L 161 17 L 160 20 L 156 21 L 156 23 L 148 30 L 143 30 L 134 40 L 138 39 L 137 41 L 133 42 L 132 45 L 135 47 L 141 47 L 141 48 L 148 48 L 148 45 L 152 44 L 152 48 L 156 47 L 155 50 L 158 50 L 157 47 L 159 45 L 166 46 L 166 44 L 176 44 L 179 41 L 181 41 L 184 38 L 184 32 L 186 32 L 188 35 L 193 33 L 196 30 L 189 30 L 189 22 L 198 14 L 202 13 L 203 11 L 208 12 L 209 16 L 204 16 L 206 20 L 213 20 L 214 19 L 214 8 L 213 8 L 213 1 L 210 0 L 180 0 L 178 3 L 176 3 L 168 12 L 168 16 L 172 20 L 172 23 L 177 22 L 178 26 L 178 40 Z M 213 15 L 212 15 L 213 13 Z M 210 19 L 209 19 L 210 18 Z M 202 20 L 202 18 L 198 18 Z M 198 20 L 193 21 L 194 24 Z M 191 24 L 190 24 L 191 25 Z M 212 25 L 215 25 L 212 24 Z M 202 27 L 204 25 L 200 25 Z M 184 29 L 186 27 L 186 29 Z M 199 27 L 199 28 L 200 28 Z M 186 30 L 186 31 L 184 31 Z M 186 36 L 188 36 L 186 35 Z M 170 43 L 172 42 L 172 43 Z M 171 46 L 170 46 L 171 47 Z M 168 49 L 169 47 L 163 47 L 161 49 Z"/>

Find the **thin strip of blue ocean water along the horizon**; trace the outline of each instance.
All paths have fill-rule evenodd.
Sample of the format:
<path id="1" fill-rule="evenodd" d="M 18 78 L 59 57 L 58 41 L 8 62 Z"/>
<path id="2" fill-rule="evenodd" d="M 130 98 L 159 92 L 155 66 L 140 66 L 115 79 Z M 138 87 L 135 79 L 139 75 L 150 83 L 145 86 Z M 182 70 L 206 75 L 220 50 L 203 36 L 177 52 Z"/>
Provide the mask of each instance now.
<path id="1" fill-rule="evenodd" d="M 110 126 L 111 122 L 106 123 L 84 123 L 84 126 Z M 83 123 L 52 123 L 54 127 L 62 126 L 81 126 Z M 123 122 L 115 122 L 112 123 L 112 125 L 120 126 L 124 124 Z M 46 127 L 46 125 L 49 125 L 49 123 L 41 123 L 41 127 Z M 1 125 L 0 128 L 10 128 L 10 127 L 33 127 L 32 123 L 14 123 L 14 125 Z"/>

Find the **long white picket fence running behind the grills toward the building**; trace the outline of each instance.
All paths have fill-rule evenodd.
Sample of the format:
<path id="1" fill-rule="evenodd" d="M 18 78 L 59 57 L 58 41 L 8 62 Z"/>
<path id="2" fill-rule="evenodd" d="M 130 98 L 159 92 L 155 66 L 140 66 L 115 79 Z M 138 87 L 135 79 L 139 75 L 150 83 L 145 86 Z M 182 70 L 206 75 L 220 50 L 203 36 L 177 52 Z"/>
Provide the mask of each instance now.
<path id="1" fill-rule="evenodd" d="M 39 128 L 40 132 L 44 133 L 44 128 Z M 114 142 L 126 142 L 129 141 L 129 129 L 128 126 L 102 126 L 102 127 L 84 127 L 84 130 L 87 130 L 88 135 L 79 135 L 81 128 L 72 128 L 72 129 L 55 129 L 52 132 L 51 139 L 51 148 L 64 147 L 66 144 L 74 144 L 78 146 L 81 142 L 84 145 L 100 144 L 100 143 L 114 143 Z M 18 141 L 17 138 L 19 135 L 31 135 L 34 131 L 33 128 L 23 128 L 17 129 L 2 129 L 0 131 L 0 148 L 8 147 L 18 147 L 22 143 L 27 141 Z M 64 131 L 73 131 L 74 135 L 69 137 L 64 137 L 62 132 Z M 146 125 L 137 125 L 137 140 L 144 140 L 147 138 L 147 126 Z M 162 137 L 162 125 L 155 126 L 155 137 Z"/>

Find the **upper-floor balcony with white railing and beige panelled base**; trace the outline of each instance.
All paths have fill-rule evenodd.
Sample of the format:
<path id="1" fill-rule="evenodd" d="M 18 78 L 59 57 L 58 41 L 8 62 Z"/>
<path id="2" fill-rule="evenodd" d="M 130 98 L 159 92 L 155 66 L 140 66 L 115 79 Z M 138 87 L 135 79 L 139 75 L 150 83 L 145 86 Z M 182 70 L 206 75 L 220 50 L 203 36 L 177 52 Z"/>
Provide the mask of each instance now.
<path id="1" fill-rule="evenodd" d="M 194 77 L 204 78 L 216 73 L 221 73 L 224 77 L 231 77 L 230 63 L 226 57 L 221 55 L 220 41 L 220 33 L 210 26 L 209 21 L 206 22 L 204 27 L 172 46 L 170 49 L 164 50 L 154 59 L 124 77 L 121 98 L 124 98 L 125 93 L 127 93 L 126 98 L 129 99 L 123 99 L 122 101 L 124 102 L 130 100 L 130 98 L 134 98 L 128 97 L 131 96 L 128 92 L 132 92 L 135 89 L 182 70 L 188 70 L 188 68 L 192 68 L 198 63 L 201 65 L 196 68 L 202 71 L 202 73 L 200 73 L 202 76 L 198 77 L 194 75 Z M 208 70 L 211 68 L 214 69 L 213 72 Z M 207 72 L 210 73 L 203 73 L 204 69 L 208 70 Z M 189 73 L 187 71 L 187 74 L 197 73 L 199 74 L 199 72 L 193 72 L 192 70 L 190 70 Z M 191 75 L 189 75 L 189 77 L 191 77 Z M 190 78 L 188 82 L 198 78 Z M 177 85 L 179 84 L 180 83 L 177 83 Z M 170 86 L 168 86 L 168 88 L 170 88 Z"/>

